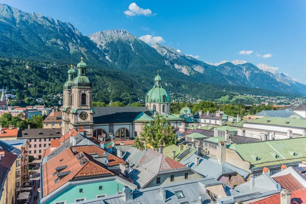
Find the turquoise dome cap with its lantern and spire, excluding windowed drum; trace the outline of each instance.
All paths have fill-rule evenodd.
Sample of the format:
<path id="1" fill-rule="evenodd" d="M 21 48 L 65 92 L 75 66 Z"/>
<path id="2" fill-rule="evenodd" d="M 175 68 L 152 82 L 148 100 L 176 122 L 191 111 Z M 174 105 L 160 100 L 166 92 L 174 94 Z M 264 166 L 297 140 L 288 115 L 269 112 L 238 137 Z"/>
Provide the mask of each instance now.
<path id="1" fill-rule="evenodd" d="M 145 97 L 146 103 L 168 103 L 170 104 L 170 95 L 162 86 L 162 79 L 159 75 L 155 77 L 154 87 L 149 90 Z"/>

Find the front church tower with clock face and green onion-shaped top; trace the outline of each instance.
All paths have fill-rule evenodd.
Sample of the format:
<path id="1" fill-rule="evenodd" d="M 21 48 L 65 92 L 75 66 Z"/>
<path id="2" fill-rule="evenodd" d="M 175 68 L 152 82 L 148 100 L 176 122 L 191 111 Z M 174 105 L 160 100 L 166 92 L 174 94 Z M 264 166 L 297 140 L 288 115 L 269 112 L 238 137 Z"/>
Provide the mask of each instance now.
<path id="1" fill-rule="evenodd" d="M 68 130 L 66 131 L 65 128 L 64 130 L 68 132 L 73 127 L 83 126 L 86 135 L 91 136 L 93 131 L 93 110 L 91 105 L 92 84 L 88 77 L 86 77 L 87 67 L 83 62 L 83 58 L 81 58 L 81 62 L 77 65 L 77 68 L 78 75 L 71 83 L 71 95 L 67 92 L 68 99 L 65 100 L 65 103 L 70 105 L 71 108 L 68 113 Z"/>

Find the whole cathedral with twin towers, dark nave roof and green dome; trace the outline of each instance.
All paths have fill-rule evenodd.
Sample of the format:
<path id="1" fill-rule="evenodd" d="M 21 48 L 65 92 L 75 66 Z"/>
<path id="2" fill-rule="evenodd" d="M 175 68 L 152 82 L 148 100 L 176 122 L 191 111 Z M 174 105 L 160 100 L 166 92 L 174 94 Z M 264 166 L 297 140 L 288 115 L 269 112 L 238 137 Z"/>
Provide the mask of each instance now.
<path id="1" fill-rule="evenodd" d="M 164 117 L 174 127 L 184 121 L 170 114 L 170 95 L 163 88 L 159 74 L 146 94 L 145 107 L 92 107 L 92 84 L 81 59 L 77 73 L 71 65 L 63 87 L 62 134 L 82 126 L 88 137 L 132 139 L 143 130 L 144 123 L 154 121 L 157 116 Z"/>

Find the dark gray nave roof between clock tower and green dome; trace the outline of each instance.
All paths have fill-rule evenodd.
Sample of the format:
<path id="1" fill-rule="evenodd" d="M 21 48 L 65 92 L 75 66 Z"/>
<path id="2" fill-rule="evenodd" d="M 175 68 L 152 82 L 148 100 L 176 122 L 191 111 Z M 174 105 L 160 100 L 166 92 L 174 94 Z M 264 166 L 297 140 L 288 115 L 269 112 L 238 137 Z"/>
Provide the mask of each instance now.
<path id="1" fill-rule="evenodd" d="M 152 117 L 147 107 L 93 107 L 94 123 L 133 122 L 142 112 Z"/>

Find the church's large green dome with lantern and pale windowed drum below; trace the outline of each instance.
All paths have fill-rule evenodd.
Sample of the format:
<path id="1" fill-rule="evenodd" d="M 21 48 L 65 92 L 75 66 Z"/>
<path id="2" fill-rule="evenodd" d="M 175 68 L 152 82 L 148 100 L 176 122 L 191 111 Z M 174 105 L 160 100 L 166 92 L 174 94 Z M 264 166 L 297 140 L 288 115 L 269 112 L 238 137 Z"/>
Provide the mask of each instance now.
<path id="1" fill-rule="evenodd" d="M 159 74 L 155 77 L 154 86 L 145 96 L 145 106 L 158 114 L 170 113 L 170 95 L 163 88 L 162 78 Z"/>

